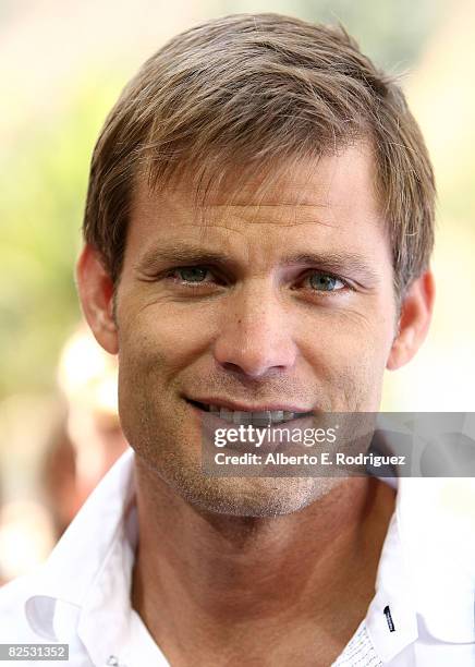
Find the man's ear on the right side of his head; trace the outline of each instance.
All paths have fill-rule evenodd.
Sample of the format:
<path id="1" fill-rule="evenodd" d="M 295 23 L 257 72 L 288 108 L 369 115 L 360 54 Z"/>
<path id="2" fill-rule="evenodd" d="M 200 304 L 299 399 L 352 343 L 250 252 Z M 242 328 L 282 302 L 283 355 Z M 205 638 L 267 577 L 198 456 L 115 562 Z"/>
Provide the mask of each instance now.
<path id="1" fill-rule="evenodd" d="M 435 293 L 430 271 L 411 284 L 401 304 L 399 331 L 386 364 L 389 371 L 395 371 L 411 361 L 424 342 L 433 316 Z"/>

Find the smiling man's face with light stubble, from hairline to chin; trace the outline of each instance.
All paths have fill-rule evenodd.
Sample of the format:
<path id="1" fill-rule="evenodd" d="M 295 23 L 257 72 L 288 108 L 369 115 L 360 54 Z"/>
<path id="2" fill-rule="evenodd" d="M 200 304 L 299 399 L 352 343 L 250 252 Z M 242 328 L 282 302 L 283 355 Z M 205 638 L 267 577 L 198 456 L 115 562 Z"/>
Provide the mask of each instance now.
<path id="1" fill-rule="evenodd" d="M 253 185 L 199 205 L 184 181 L 137 192 L 117 294 L 119 407 L 139 459 L 188 501 L 266 516 L 328 481 L 207 477 L 191 401 L 377 411 L 397 306 L 369 150 L 292 169 L 264 195 Z"/>

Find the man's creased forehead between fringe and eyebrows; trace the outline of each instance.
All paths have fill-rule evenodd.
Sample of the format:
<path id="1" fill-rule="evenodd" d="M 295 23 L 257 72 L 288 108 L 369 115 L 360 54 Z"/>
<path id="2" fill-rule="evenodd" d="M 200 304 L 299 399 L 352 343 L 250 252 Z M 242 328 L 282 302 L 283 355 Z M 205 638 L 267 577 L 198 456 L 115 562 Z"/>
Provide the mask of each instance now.
<path id="1" fill-rule="evenodd" d="M 260 247 L 386 242 L 369 147 L 252 172 L 236 168 L 211 178 L 202 191 L 190 175 L 151 191 L 145 179 L 135 192 L 126 253 L 181 240 Z M 373 238 L 373 241 L 372 241 Z M 256 248 L 254 248 L 255 252 Z M 305 250 L 305 248 L 302 248 Z M 334 247 L 338 250 L 338 247 Z"/>

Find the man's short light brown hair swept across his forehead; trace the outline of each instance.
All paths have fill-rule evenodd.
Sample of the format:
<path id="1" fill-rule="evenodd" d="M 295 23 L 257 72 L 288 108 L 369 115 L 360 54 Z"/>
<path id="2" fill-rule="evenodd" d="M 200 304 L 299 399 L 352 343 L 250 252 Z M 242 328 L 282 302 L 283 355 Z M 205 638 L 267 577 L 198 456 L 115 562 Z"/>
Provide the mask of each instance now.
<path id="1" fill-rule="evenodd" d="M 278 14 L 208 21 L 165 45 L 122 92 L 96 144 L 85 241 L 117 284 L 137 175 L 166 187 L 267 170 L 370 141 L 399 294 L 428 266 L 435 183 L 397 83 L 342 27 Z"/>

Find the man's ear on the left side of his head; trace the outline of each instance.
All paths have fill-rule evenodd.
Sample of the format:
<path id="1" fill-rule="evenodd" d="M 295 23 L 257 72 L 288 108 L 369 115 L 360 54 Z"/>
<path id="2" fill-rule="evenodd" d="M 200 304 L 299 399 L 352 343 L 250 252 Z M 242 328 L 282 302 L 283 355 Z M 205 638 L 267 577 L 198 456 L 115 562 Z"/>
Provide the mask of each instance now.
<path id="1" fill-rule="evenodd" d="M 76 282 L 81 305 L 97 342 L 110 354 L 119 351 L 113 317 L 113 283 L 101 255 L 86 244 L 76 265 Z"/>

